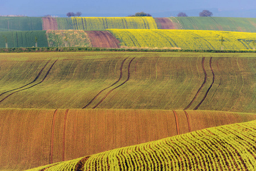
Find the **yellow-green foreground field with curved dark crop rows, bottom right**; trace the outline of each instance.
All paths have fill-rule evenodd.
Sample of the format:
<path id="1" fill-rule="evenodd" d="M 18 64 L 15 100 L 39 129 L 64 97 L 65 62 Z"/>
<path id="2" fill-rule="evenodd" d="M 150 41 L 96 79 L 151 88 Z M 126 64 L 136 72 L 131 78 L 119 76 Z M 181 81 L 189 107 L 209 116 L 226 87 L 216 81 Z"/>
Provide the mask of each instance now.
<path id="1" fill-rule="evenodd" d="M 256 121 L 202 129 L 40 170 L 255 170 Z M 65 169 L 64 169 L 65 168 Z"/>

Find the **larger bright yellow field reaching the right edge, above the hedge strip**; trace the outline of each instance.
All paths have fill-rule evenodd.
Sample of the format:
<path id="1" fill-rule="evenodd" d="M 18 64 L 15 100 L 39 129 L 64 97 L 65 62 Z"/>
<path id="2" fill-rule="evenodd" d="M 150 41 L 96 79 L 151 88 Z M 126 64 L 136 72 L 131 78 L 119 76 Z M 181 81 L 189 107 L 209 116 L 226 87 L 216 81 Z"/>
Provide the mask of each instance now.
<path id="1" fill-rule="evenodd" d="M 110 32 L 122 47 L 181 48 L 190 50 L 253 50 L 256 33 L 202 30 L 117 30 Z M 223 37 L 223 42 L 222 42 Z M 222 42 L 222 43 L 221 43 Z"/>

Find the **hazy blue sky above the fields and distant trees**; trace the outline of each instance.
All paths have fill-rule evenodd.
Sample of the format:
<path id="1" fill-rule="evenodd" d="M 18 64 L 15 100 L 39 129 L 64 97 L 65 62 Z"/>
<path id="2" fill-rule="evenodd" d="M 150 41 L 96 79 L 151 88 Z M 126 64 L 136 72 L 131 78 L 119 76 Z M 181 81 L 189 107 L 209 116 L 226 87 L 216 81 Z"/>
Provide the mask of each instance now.
<path id="1" fill-rule="evenodd" d="M 178 11 L 185 11 L 193 15 L 200 10 L 213 10 L 216 13 L 222 11 L 247 11 L 256 9 L 255 0 L 0 0 L 0 15 L 21 14 L 30 17 L 41 17 L 43 15 L 62 15 L 73 11 L 82 12 L 82 16 L 99 17 L 97 15 L 112 15 L 112 17 L 124 17 L 144 11 L 155 15 L 176 15 Z M 193 11 L 193 13 L 192 13 Z M 173 14 L 172 14 L 173 13 Z M 170 17 L 170 16 L 156 16 Z M 225 17 L 225 16 L 223 16 Z M 227 16 L 228 17 L 228 16 Z"/>

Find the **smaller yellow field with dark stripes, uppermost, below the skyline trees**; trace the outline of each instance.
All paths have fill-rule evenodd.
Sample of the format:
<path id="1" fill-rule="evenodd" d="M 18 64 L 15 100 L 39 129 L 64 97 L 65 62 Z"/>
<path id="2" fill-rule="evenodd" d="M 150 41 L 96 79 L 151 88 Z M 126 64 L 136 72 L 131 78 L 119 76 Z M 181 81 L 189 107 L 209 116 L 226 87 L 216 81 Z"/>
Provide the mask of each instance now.
<path id="1" fill-rule="evenodd" d="M 76 30 L 157 29 L 152 17 L 72 17 Z"/>

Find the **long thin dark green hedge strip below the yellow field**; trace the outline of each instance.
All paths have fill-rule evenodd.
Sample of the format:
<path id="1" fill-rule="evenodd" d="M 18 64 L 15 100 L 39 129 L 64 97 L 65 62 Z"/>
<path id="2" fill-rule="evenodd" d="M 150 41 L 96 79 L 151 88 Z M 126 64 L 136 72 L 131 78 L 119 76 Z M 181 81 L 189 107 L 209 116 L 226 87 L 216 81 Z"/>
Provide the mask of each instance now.
<path id="1" fill-rule="evenodd" d="M 86 52 L 86 51 L 128 51 L 128 52 L 208 52 L 208 53 L 256 53 L 254 50 L 177 50 L 172 48 L 100 48 L 100 47 L 13 47 L 0 48 L 6 52 Z"/>

